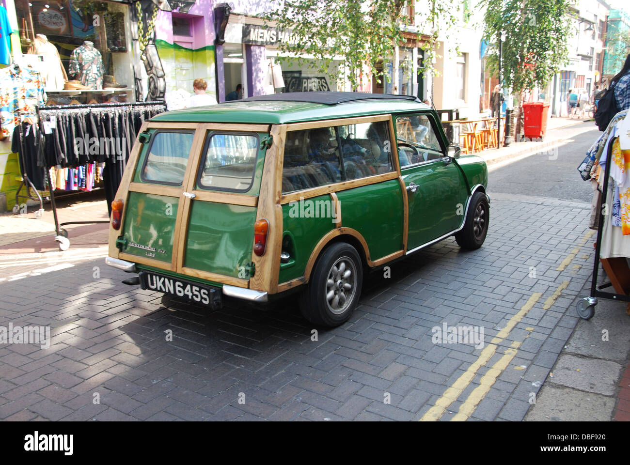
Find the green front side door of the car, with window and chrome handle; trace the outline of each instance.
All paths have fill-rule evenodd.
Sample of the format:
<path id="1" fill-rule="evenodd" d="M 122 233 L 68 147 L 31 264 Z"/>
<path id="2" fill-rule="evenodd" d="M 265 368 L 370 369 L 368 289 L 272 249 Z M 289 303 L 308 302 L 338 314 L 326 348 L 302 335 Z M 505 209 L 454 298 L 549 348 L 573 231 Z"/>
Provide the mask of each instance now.
<path id="1" fill-rule="evenodd" d="M 431 112 L 397 115 L 396 132 L 408 198 L 407 250 L 413 251 L 461 226 L 466 183 L 445 155 L 444 132 Z"/>

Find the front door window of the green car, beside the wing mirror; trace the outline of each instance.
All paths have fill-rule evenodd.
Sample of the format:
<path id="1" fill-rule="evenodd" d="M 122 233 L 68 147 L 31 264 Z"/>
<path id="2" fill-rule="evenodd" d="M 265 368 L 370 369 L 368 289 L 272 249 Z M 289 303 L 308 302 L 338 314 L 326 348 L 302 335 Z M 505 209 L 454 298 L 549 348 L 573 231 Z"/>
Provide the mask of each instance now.
<path id="1" fill-rule="evenodd" d="M 444 153 L 427 115 L 396 118 L 400 166 L 442 158 Z"/>

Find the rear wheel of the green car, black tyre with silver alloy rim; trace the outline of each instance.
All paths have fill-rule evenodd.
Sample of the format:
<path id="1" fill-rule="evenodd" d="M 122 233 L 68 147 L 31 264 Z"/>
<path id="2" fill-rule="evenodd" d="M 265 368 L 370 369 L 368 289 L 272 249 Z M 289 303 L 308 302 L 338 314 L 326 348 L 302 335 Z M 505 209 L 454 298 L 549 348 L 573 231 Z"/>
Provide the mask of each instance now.
<path id="1" fill-rule="evenodd" d="M 302 316 L 331 328 L 345 323 L 357 306 L 362 284 L 363 266 L 357 250 L 347 243 L 331 245 L 319 256 L 299 297 Z"/>

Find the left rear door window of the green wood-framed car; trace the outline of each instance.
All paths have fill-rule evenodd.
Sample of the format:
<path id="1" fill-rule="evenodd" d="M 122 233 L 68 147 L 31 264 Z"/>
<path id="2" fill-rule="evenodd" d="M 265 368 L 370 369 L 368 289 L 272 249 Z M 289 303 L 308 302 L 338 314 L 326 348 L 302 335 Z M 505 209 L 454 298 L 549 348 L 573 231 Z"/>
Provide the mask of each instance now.
<path id="1" fill-rule="evenodd" d="M 159 131 L 151 139 L 142 168 L 142 181 L 181 185 L 193 145 L 194 132 Z"/>

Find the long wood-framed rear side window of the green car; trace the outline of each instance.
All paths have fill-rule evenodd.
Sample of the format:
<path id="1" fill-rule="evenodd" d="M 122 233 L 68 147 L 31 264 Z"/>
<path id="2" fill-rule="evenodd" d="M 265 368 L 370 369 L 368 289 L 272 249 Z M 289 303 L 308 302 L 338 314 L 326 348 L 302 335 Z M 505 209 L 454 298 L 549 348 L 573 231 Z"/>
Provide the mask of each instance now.
<path id="1" fill-rule="evenodd" d="M 386 121 L 287 132 L 282 193 L 393 170 Z"/>

